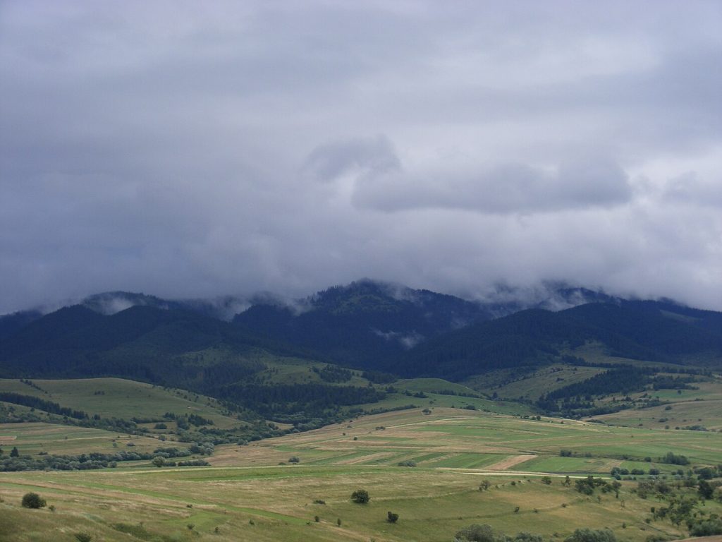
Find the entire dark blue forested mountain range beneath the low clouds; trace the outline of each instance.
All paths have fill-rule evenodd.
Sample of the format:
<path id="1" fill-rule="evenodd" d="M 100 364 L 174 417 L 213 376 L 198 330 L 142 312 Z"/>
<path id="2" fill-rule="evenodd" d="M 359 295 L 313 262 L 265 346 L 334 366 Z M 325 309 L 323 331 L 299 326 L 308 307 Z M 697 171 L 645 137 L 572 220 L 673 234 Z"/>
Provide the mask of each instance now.
<path id="1" fill-rule="evenodd" d="M 113 292 L 48 314 L 0 317 L 0 377 L 116 376 L 216 397 L 253 395 L 254 404 L 276 397 L 271 358 L 460 382 L 493 369 L 584 364 L 591 347 L 627 362 L 722 369 L 722 313 L 582 288 L 557 288 L 531 303 L 479 303 L 360 280 L 293 302 Z M 331 387 L 344 379 L 326 380 L 303 383 L 303 393 L 338 395 Z"/>

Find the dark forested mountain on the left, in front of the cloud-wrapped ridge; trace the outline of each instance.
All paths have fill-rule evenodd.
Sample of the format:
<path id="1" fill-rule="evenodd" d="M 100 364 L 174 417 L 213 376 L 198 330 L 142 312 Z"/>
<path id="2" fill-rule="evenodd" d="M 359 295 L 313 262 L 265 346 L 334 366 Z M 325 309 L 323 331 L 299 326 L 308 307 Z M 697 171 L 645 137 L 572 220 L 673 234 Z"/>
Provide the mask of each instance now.
<path id="1" fill-rule="evenodd" d="M 77 305 L 47 314 L 1 340 L 0 372 L 13 377 L 122 376 L 180 385 L 187 384 L 193 371 L 207 369 L 193 368 L 193 359 L 182 355 L 208 348 L 239 355 L 252 348 L 308 355 L 191 311 L 133 306 L 105 316 Z"/>

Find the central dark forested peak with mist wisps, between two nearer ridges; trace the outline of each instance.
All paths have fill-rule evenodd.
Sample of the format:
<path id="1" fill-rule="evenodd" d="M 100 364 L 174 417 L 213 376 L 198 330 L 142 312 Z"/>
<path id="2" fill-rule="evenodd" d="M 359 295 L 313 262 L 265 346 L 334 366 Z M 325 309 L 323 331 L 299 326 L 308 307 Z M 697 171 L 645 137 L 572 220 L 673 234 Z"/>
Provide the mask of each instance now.
<path id="1" fill-rule="evenodd" d="M 258 304 L 233 322 L 337 363 L 378 369 L 428 337 L 490 317 L 484 306 L 454 296 L 362 280 L 296 306 Z"/>

